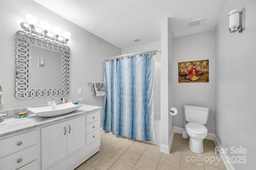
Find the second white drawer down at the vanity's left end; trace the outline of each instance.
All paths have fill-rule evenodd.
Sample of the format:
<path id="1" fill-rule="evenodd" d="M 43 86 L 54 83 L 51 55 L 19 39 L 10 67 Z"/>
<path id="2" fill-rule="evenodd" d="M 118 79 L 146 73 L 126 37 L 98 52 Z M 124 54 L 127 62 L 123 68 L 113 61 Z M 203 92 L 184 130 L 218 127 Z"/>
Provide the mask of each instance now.
<path id="1" fill-rule="evenodd" d="M 1 170 L 15 170 L 24 166 L 37 158 L 37 146 L 31 146 L 9 156 L 0 159 Z"/>

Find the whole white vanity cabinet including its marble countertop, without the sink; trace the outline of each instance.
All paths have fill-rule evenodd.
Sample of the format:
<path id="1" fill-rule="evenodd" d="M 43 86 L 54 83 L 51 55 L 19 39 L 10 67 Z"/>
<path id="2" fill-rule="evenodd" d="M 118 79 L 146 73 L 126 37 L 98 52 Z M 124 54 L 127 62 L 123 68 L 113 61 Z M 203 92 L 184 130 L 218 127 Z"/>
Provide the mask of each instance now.
<path id="1" fill-rule="evenodd" d="M 5 119 L 0 125 L 0 170 L 75 169 L 99 151 L 100 108 L 84 105 L 56 117 Z"/>

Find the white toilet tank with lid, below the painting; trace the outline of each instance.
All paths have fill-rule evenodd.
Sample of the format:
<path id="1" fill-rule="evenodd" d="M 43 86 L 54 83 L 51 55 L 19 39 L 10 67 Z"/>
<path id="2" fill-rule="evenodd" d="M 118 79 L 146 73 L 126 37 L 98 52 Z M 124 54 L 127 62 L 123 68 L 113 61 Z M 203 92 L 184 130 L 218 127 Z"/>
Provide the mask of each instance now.
<path id="1" fill-rule="evenodd" d="M 209 117 L 209 107 L 184 105 L 184 116 L 187 122 L 206 124 Z"/>

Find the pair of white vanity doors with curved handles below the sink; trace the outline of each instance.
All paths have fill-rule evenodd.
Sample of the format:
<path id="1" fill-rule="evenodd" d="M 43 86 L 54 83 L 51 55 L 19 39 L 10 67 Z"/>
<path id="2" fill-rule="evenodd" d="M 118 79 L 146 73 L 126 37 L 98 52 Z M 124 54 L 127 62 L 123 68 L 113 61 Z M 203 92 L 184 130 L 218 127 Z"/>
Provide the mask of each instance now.
<path id="1" fill-rule="evenodd" d="M 42 170 L 83 148 L 86 145 L 85 133 L 85 116 L 42 128 Z"/>

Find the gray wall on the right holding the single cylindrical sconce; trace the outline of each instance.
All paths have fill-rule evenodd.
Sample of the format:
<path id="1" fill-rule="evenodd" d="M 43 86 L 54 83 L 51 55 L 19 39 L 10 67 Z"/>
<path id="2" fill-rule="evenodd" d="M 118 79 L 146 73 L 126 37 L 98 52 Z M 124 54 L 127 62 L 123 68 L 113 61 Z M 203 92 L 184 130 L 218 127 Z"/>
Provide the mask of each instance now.
<path id="1" fill-rule="evenodd" d="M 246 7 L 246 29 L 229 33 L 228 13 Z M 215 135 L 228 156 L 246 156 L 236 170 L 256 169 L 256 1 L 228 2 L 215 29 L 216 97 Z M 230 153 L 230 147 L 246 148 L 246 154 Z"/>

